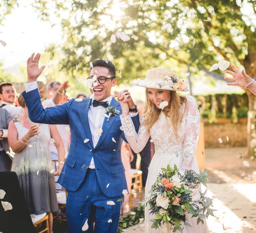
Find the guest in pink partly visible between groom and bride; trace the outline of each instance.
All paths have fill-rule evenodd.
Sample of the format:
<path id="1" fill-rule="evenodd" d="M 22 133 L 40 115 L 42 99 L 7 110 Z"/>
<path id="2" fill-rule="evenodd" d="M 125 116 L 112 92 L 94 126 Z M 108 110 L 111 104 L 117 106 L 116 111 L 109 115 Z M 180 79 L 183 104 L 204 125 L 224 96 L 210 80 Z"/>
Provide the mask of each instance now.
<path id="1" fill-rule="evenodd" d="M 133 160 L 133 153 L 132 153 L 131 147 L 125 141 L 123 142 L 121 147 L 121 157 L 122 157 L 122 162 L 125 169 L 125 178 L 128 186 L 128 191 L 129 191 L 129 194 L 124 196 L 124 202 L 123 202 L 123 212 L 127 213 L 130 210 L 129 196 L 131 195 L 130 192 L 131 192 L 131 185 L 132 185 L 132 178 L 131 178 L 132 173 L 131 173 L 130 162 Z"/>

